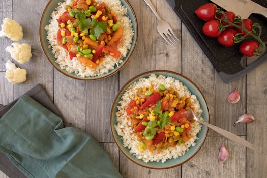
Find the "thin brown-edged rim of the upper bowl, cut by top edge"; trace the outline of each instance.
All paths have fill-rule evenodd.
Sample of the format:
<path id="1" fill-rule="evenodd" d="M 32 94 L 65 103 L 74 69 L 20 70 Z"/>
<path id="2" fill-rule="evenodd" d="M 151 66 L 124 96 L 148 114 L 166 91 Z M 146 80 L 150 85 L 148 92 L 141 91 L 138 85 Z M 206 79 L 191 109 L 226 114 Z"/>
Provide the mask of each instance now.
<path id="1" fill-rule="evenodd" d="M 70 73 L 68 73 L 67 71 L 65 71 L 64 69 L 61 69 L 60 67 L 56 66 L 54 63 L 54 61 L 49 57 L 49 55 L 47 54 L 46 50 L 45 50 L 45 46 L 43 44 L 43 41 L 42 41 L 42 24 L 43 24 L 43 20 L 44 20 L 44 15 L 48 9 L 48 7 L 50 6 L 50 4 L 52 3 L 53 0 L 50 0 L 47 5 L 45 6 L 45 9 L 43 10 L 42 12 L 42 16 L 41 16 L 41 19 L 40 19 L 40 23 L 39 23 L 39 41 L 41 43 L 41 47 L 42 47 L 42 51 L 43 53 L 45 54 L 46 58 L 48 59 L 48 61 L 52 64 L 52 66 L 54 68 L 56 68 L 58 71 L 60 71 L 61 73 L 63 73 L 64 75 L 67 75 L 68 77 L 71 77 L 71 78 L 74 78 L 74 79 L 77 79 L 77 80 L 87 80 L 87 81 L 93 81 L 93 80 L 100 80 L 100 79 L 104 79 L 104 78 L 107 78 L 113 74 L 115 74 L 116 72 L 120 71 L 129 61 L 130 57 L 132 56 L 133 54 L 133 51 L 136 47 L 136 43 L 137 43 L 137 39 L 138 39 L 138 23 L 137 23 L 137 18 L 136 18 L 136 15 L 135 15 L 135 12 L 131 6 L 131 4 L 128 2 L 128 0 L 119 0 L 119 1 L 124 1 L 126 4 L 128 4 L 132 14 L 133 14 L 133 17 L 134 17 L 134 23 L 135 23 L 135 26 L 136 26 L 136 31 L 135 31 L 135 41 L 134 41 L 134 44 L 131 44 L 133 46 L 132 50 L 130 51 L 128 57 L 126 58 L 126 60 L 121 63 L 120 66 L 118 66 L 118 68 L 116 68 L 116 70 L 112 71 L 111 73 L 108 73 L 107 75 L 105 75 L 106 73 L 102 74 L 103 76 L 96 76 L 94 78 L 91 78 L 91 77 L 87 77 L 87 78 L 82 78 L 82 77 L 78 77 L 78 76 L 73 76 L 73 75 L 70 75 Z M 133 23 L 133 22 L 132 22 Z M 54 63 L 53 63 L 54 62 Z"/>

